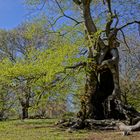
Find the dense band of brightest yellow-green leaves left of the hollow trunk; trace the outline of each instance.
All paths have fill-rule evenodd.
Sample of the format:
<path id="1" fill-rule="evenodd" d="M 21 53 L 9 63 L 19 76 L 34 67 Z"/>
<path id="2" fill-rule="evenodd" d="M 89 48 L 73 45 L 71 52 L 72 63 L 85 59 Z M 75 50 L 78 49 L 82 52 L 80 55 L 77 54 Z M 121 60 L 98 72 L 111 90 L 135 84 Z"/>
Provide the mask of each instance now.
<path id="1" fill-rule="evenodd" d="M 27 35 L 31 38 L 31 35 Z M 42 82 L 51 82 L 55 75 L 64 73 L 66 66 L 80 62 L 83 58 L 76 57 L 79 46 L 66 40 L 55 38 L 49 43 L 48 49 L 37 50 L 30 47 L 26 57 L 18 58 L 15 63 L 8 58 L 0 62 L 0 81 L 13 80 L 18 77 L 35 78 Z"/>

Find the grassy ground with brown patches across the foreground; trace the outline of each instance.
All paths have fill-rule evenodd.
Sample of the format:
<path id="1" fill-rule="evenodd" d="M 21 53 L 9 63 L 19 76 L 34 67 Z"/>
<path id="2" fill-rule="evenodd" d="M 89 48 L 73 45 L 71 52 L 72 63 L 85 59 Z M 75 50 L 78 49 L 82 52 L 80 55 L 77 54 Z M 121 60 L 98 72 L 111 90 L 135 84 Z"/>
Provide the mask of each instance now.
<path id="1" fill-rule="evenodd" d="M 0 140 L 140 140 L 140 132 L 80 130 L 68 133 L 54 125 L 56 120 L 15 120 L 0 122 Z"/>

